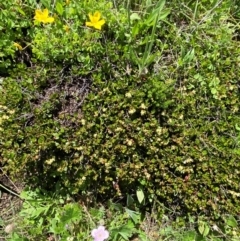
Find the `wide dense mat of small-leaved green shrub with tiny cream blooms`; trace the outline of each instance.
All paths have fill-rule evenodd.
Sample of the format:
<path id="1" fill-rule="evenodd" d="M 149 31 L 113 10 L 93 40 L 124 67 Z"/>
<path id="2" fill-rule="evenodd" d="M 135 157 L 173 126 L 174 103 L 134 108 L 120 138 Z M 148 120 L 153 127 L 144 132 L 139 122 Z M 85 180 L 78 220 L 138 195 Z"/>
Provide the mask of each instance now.
<path id="1" fill-rule="evenodd" d="M 61 40 L 61 17 L 35 26 L 32 67 L 18 65 L 1 83 L 5 170 L 72 194 L 141 188 L 179 213 L 238 213 L 240 49 L 226 9 L 181 30 L 173 15 L 160 22 L 143 72 L 126 47 L 123 10 L 125 27 L 109 14 L 116 33 L 81 28 L 82 15 Z M 135 37 L 132 49 L 144 52 L 145 37 Z"/>

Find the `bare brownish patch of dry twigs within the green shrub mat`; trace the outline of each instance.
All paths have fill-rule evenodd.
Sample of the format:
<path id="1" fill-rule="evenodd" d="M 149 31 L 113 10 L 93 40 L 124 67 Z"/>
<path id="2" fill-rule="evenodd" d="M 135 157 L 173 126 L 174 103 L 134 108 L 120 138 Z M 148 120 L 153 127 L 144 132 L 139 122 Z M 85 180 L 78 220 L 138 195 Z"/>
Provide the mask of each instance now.
<path id="1" fill-rule="evenodd" d="M 33 68 L 34 71 L 36 70 Z M 23 77 L 19 77 L 17 81 L 21 83 Z M 36 91 L 31 92 L 32 99 L 29 100 L 31 112 L 23 116 L 27 118 L 26 125 L 34 125 L 35 118 L 38 120 L 39 116 L 48 113 L 62 126 L 75 127 L 76 121 L 82 117 L 81 106 L 91 88 L 91 78 L 80 77 L 63 68 L 52 75 L 49 73 L 44 83 L 41 81 L 39 76 L 34 76 L 37 87 Z M 23 93 L 24 91 L 26 92 L 23 89 Z"/>

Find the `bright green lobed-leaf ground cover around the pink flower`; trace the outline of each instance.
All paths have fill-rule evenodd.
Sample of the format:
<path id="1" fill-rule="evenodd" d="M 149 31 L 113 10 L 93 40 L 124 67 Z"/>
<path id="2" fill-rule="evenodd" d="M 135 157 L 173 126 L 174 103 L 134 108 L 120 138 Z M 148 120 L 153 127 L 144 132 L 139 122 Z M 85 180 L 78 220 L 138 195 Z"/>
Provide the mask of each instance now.
<path id="1" fill-rule="evenodd" d="M 175 223 L 170 216 L 157 220 L 154 212 L 142 216 L 140 200 L 131 196 L 124 206 L 109 200 L 94 207 L 71 197 L 50 198 L 38 189 L 20 196 L 25 200 L 20 213 L 8 224 L 1 223 L 6 240 L 239 240 L 237 221 L 229 215 L 221 226 L 210 225 L 203 216 Z"/>

